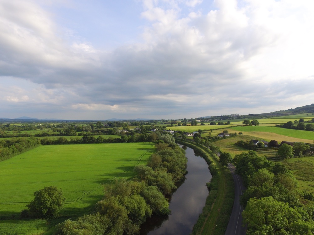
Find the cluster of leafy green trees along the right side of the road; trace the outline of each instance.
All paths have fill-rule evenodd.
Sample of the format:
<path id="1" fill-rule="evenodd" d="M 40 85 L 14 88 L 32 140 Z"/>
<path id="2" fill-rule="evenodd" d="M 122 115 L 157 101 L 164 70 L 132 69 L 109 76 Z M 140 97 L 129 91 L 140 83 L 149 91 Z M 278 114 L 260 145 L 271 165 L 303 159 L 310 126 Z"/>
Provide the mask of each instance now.
<path id="1" fill-rule="evenodd" d="M 246 234 L 314 233 L 314 196 L 297 190 L 290 170 L 254 151 L 236 155 L 234 161 L 247 186 L 241 197 Z"/>

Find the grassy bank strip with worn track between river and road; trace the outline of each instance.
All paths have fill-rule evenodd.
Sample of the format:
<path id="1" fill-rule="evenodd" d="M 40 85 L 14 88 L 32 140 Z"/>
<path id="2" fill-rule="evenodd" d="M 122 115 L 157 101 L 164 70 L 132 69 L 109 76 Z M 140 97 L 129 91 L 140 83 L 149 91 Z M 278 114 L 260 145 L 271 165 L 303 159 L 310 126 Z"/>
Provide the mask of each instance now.
<path id="1" fill-rule="evenodd" d="M 207 162 L 212 174 L 212 179 L 208 183 L 209 194 L 206 204 L 193 227 L 192 234 L 225 234 L 235 194 L 234 180 L 230 170 L 222 167 L 218 163 L 217 156 L 209 149 L 183 140 L 176 140 L 176 143 L 198 151 Z"/>

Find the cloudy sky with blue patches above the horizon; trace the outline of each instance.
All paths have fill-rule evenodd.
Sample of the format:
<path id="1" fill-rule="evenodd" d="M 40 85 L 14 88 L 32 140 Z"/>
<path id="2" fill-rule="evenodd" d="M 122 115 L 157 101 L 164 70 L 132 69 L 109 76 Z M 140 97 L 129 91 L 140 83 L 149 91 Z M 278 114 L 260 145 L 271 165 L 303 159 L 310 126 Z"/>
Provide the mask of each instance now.
<path id="1" fill-rule="evenodd" d="M 312 104 L 313 29 L 312 0 L 0 0 L 0 118 Z"/>

